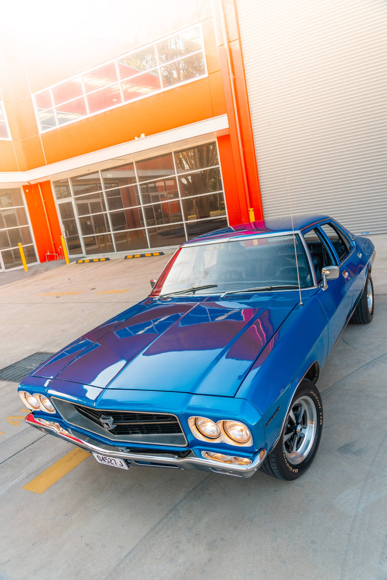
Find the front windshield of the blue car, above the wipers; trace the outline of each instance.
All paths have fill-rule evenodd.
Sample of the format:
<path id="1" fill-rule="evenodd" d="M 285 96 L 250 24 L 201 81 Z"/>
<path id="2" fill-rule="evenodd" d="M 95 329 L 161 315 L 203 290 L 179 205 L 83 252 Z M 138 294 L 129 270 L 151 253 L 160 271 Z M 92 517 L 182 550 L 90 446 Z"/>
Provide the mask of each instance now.
<path id="1" fill-rule="evenodd" d="M 299 281 L 307 288 L 314 281 L 299 235 L 295 243 Z M 184 291 L 208 295 L 276 286 L 298 287 L 292 234 L 183 246 L 154 295 Z"/>

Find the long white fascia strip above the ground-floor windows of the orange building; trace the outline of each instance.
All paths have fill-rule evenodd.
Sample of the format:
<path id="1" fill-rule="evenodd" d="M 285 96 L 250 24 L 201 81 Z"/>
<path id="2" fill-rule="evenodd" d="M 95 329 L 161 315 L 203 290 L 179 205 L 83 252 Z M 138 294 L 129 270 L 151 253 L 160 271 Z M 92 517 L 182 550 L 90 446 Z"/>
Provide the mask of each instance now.
<path id="1" fill-rule="evenodd" d="M 143 151 L 158 147 L 171 146 L 178 142 L 195 139 L 196 137 L 215 137 L 228 132 L 229 122 L 227 115 L 219 115 L 197 121 L 190 125 L 183 125 L 176 129 L 169 129 L 162 133 L 155 133 L 146 137 L 140 137 L 132 141 L 106 147 L 78 157 L 71 157 L 64 161 L 57 161 L 49 165 L 42 165 L 35 169 L 20 172 L 0 172 L 0 187 L 20 187 L 28 183 L 37 183 L 63 174 L 74 172 L 74 170 L 85 168 L 90 165 L 101 164 L 106 161 L 117 160 L 121 157 L 128 157 L 141 154 Z M 118 165 L 118 163 L 117 163 Z"/>

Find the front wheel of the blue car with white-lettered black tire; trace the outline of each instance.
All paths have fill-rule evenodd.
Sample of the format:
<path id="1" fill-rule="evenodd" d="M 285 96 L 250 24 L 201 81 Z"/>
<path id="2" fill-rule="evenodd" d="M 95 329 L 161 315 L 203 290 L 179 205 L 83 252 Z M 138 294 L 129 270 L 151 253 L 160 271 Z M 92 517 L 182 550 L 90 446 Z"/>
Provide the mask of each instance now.
<path id="1" fill-rule="evenodd" d="M 303 379 L 292 398 L 280 439 L 261 471 L 287 481 L 300 477 L 316 455 L 322 430 L 321 395 L 311 380 Z"/>

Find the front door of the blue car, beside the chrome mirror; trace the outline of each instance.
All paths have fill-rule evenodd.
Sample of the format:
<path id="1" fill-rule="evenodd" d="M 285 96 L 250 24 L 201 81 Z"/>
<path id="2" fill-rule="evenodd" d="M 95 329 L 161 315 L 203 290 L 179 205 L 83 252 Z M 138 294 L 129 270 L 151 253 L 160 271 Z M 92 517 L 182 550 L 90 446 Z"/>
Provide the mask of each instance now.
<path id="1" fill-rule="evenodd" d="M 312 257 L 317 284 L 320 284 L 323 280 L 321 270 L 324 267 L 339 265 L 337 255 L 320 227 L 306 231 L 303 236 Z M 344 270 L 341 269 L 336 280 L 328 280 L 328 288 L 325 291 L 320 288 L 317 293 L 317 298 L 328 318 L 329 350 L 333 348 L 345 327 L 352 307 L 352 285 L 349 274 L 345 276 Z"/>

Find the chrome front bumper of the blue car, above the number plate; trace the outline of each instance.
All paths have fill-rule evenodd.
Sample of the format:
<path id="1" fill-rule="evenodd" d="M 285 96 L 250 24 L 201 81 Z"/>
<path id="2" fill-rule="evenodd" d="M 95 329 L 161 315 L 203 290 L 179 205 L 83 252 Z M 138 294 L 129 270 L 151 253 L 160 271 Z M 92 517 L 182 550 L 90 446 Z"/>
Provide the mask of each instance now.
<path id="1" fill-rule="evenodd" d="M 118 457 L 120 459 L 128 460 L 130 466 L 140 466 L 140 467 L 170 467 L 175 469 L 198 469 L 201 471 L 223 473 L 224 475 L 231 475 L 236 477 L 251 477 L 261 466 L 262 462 L 265 461 L 267 455 L 266 449 L 262 449 L 253 459 L 250 465 L 234 465 L 234 463 L 222 463 L 220 461 L 211 461 L 211 459 L 204 459 L 197 457 L 193 453 L 187 457 L 170 457 L 165 455 L 148 455 L 148 454 L 135 454 L 126 453 L 124 451 L 118 451 L 117 447 L 111 445 L 104 445 L 95 441 L 90 437 L 78 434 L 77 437 L 70 433 L 66 429 L 63 429 L 59 423 L 53 421 L 48 421 L 46 419 L 39 419 L 34 417 L 32 413 L 26 416 L 26 423 L 50 433 L 55 437 L 59 437 L 75 445 L 76 447 L 81 447 L 88 451 L 89 453 L 95 452 L 100 455 L 106 455 L 110 457 Z M 83 437 L 82 439 L 80 437 Z"/>

